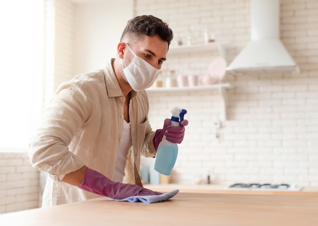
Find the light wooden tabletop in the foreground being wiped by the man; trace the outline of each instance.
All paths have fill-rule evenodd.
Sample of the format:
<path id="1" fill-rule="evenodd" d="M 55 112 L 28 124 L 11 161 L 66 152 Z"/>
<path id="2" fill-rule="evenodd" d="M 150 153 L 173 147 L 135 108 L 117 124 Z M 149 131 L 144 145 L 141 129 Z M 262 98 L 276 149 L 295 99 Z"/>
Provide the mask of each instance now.
<path id="1" fill-rule="evenodd" d="M 97 198 L 0 215 L 5 225 L 318 225 L 318 197 L 178 193 L 160 203 Z"/>

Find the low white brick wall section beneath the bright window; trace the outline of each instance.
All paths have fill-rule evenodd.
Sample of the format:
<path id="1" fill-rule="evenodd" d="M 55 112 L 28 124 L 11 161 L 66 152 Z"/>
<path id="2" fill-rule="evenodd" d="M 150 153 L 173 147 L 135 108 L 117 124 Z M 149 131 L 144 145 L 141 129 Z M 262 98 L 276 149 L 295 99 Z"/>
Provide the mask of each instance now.
<path id="1" fill-rule="evenodd" d="M 0 153 L 0 214 L 39 207 L 39 171 L 26 153 Z"/>

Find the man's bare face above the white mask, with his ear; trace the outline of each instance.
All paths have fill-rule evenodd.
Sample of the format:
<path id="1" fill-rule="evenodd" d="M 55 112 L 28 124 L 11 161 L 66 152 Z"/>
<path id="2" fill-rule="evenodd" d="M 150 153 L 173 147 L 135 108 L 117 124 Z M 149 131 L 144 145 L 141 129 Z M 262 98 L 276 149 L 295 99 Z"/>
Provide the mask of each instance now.
<path id="1" fill-rule="evenodd" d="M 137 56 L 144 59 L 157 69 L 161 69 L 163 62 L 166 60 L 168 43 L 163 41 L 158 35 L 145 35 L 140 42 L 136 42 L 134 44 L 128 43 L 128 45 Z M 134 55 L 128 50 L 128 48 L 126 48 L 124 52 L 128 54 L 126 59 L 129 61 L 124 65 L 128 65 L 133 60 Z"/>

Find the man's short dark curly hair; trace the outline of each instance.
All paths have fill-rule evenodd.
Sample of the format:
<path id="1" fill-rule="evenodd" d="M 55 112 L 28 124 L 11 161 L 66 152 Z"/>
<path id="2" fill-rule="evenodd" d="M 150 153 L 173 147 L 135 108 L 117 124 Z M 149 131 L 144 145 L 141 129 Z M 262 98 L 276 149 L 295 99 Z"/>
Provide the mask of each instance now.
<path id="1" fill-rule="evenodd" d="M 124 28 L 120 41 L 126 34 L 145 34 L 148 36 L 159 35 L 163 41 L 168 42 L 168 47 L 173 39 L 173 32 L 166 22 L 152 15 L 142 15 L 130 19 Z"/>

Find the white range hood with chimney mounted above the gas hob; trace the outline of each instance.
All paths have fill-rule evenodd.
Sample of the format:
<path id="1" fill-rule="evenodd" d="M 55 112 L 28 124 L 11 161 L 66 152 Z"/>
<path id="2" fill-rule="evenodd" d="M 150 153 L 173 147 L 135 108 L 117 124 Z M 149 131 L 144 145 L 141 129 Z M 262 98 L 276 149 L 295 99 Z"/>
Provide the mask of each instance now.
<path id="1" fill-rule="evenodd" d="M 251 0 L 251 41 L 229 64 L 233 73 L 299 72 L 279 40 L 279 0 Z"/>

